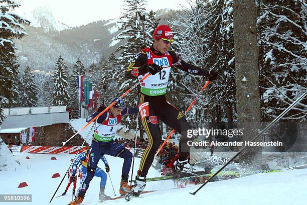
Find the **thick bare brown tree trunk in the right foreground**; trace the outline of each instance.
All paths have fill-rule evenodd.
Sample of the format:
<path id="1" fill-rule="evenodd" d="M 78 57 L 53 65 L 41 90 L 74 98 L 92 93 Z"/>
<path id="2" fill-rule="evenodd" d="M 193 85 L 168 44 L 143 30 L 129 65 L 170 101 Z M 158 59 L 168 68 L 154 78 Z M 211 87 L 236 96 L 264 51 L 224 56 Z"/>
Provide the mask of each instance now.
<path id="1" fill-rule="evenodd" d="M 243 145 L 257 135 L 260 123 L 256 16 L 254 0 L 233 1 L 237 119 L 238 129 L 244 129 Z M 242 152 L 239 161 L 258 168 L 260 158 L 261 147 L 253 146 Z"/>

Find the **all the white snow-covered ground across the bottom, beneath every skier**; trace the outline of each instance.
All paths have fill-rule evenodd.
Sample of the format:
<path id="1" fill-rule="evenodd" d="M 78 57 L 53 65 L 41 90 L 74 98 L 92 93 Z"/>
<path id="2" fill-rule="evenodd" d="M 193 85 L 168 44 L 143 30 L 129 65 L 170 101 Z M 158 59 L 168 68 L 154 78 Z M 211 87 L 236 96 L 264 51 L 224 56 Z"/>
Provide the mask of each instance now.
<path id="1" fill-rule="evenodd" d="M 58 184 L 64 176 L 70 159 L 74 155 L 50 155 L 14 153 L 15 159 L 20 161 L 19 168 L 0 172 L 1 194 L 32 194 L 32 202 L 12 203 L 1 202 L 1 204 L 48 204 Z M 29 156 L 30 159 L 26 159 Z M 50 160 L 51 157 L 57 160 Z M 117 196 L 119 195 L 119 182 L 123 159 L 106 155 L 110 164 L 110 176 Z M 138 169 L 140 159 L 135 159 L 134 172 Z M 100 161 L 98 166 L 104 169 Z M 59 172 L 61 177 L 51 178 L 54 173 Z M 131 172 L 130 172 L 131 175 Z M 159 176 L 159 172 L 150 168 L 147 177 Z M 26 181 L 28 186 L 17 188 L 19 183 Z M 68 179 L 64 179 L 56 196 L 60 195 Z M 100 180 L 94 177 L 86 192 L 83 204 L 97 203 Z M 77 182 L 79 186 L 79 179 Z M 196 195 L 189 192 L 195 191 L 200 185 L 181 189 L 171 189 L 175 185 L 172 180 L 147 182 L 145 190 L 160 190 L 132 198 L 129 202 L 123 198 L 104 201 L 103 204 L 306 204 L 307 200 L 307 169 L 291 170 L 279 173 L 261 173 L 248 177 L 236 178 L 225 181 L 210 182 Z M 68 204 L 72 199 L 72 187 L 67 195 L 54 198 L 51 204 Z M 106 194 L 114 197 L 110 179 L 107 179 Z"/>

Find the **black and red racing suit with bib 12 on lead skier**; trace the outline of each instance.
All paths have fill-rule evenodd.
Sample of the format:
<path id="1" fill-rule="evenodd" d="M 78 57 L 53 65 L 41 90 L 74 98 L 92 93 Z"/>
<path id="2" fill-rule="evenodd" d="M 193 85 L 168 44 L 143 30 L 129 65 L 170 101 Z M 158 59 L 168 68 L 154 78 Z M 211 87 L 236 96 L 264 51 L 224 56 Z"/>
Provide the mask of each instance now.
<path id="1" fill-rule="evenodd" d="M 138 77 L 141 79 L 147 74 L 145 73 L 146 66 L 152 63 L 162 66 L 163 69 L 155 75 L 149 75 L 140 83 L 139 112 L 149 141 L 141 157 L 139 165 L 140 176 L 146 176 L 161 145 L 159 120 L 162 120 L 166 125 L 181 133 L 182 137 L 179 144 L 180 160 L 186 159 L 190 153 L 190 147 L 187 145 L 188 122 L 179 110 L 169 104 L 165 97 L 172 66 L 196 75 L 207 76 L 209 73 L 207 70 L 186 63 L 182 60 L 182 56 L 177 55 L 174 51 L 169 50 L 162 54 L 151 46 L 136 54 L 135 58 L 126 68 L 125 77 Z"/>

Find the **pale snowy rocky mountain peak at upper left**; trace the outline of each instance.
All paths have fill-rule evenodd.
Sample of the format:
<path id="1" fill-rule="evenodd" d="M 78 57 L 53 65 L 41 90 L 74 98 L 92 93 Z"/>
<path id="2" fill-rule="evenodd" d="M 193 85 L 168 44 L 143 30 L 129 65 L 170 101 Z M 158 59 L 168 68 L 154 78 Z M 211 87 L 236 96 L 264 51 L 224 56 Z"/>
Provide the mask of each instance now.
<path id="1" fill-rule="evenodd" d="M 44 28 L 45 32 L 62 31 L 69 28 L 54 18 L 51 9 L 47 6 L 38 7 L 25 16 L 31 22 L 31 26 Z"/>

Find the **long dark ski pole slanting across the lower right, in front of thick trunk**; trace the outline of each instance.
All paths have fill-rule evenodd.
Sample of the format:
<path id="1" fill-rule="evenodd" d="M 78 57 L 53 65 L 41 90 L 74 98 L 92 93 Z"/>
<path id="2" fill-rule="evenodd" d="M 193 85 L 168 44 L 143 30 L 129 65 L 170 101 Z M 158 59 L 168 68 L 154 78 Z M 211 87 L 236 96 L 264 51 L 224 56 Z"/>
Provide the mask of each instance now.
<path id="1" fill-rule="evenodd" d="M 264 132 L 270 129 L 276 122 L 280 120 L 287 112 L 289 112 L 302 98 L 307 95 L 307 91 L 303 93 L 300 97 L 298 97 L 288 108 L 286 108 L 277 118 L 275 118 L 270 124 L 268 124 L 260 133 L 258 133 L 250 142 L 256 140 L 259 136 L 261 136 Z M 205 181 L 196 191 L 194 191 L 193 195 L 195 195 L 201 188 L 203 188 L 213 177 L 215 177 L 218 173 L 220 173 L 230 162 L 232 162 L 241 152 L 248 147 L 248 145 L 244 146 L 239 150 L 239 152 L 233 156 L 224 166 L 222 166 L 215 174 L 213 174 L 207 181 Z"/>

